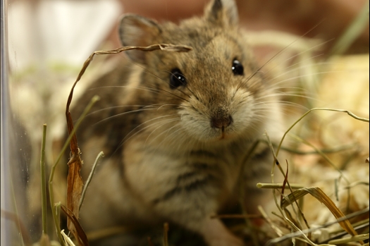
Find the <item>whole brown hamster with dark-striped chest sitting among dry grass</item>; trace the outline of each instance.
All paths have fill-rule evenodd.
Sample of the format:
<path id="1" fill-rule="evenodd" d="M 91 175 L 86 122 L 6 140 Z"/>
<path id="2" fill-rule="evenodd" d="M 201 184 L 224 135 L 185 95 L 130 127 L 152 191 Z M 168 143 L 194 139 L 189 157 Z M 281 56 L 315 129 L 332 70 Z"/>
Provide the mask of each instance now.
<path id="1" fill-rule="evenodd" d="M 101 97 L 78 130 L 84 176 L 97 153 L 106 155 L 82 204 L 82 227 L 166 221 L 207 245 L 243 245 L 211 216 L 238 204 L 240 185 L 247 211 L 263 202 L 256 183 L 270 180 L 271 152 L 259 144 L 244 162 L 265 130 L 278 137 L 282 117 L 278 94 L 238 27 L 235 2 L 211 1 L 204 16 L 178 25 L 128 14 L 119 34 L 123 46 L 192 51 L 128 51 L 128 61 L 95 81 L 72 110 L 77 118 L 92 95 Z"/>

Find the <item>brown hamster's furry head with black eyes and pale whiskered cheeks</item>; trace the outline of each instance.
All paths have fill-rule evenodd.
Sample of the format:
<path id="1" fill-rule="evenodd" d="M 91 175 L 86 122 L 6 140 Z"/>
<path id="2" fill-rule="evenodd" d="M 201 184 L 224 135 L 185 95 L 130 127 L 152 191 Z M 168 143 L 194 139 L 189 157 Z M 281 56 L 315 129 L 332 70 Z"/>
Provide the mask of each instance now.
<path id="1" fill-rule="evenodd" d="M 147 88 L 138 97 L 148 106 L 158 105 L 144 121 L 160 119 L 164 129 L 183 139 L 219 142 L 238 137 L 252 140 L 273 118 L 274 92 L 258 72 L 238 28 L 234 1 L 212 1 L 204 16 L 179 25 L 126 15 L 120 35 L 123 46 L 192 47 L 189 52 L 128 51 L 142 70 L 140 87 Z M 152 125 L 152 130 L 159 127 Z"/>

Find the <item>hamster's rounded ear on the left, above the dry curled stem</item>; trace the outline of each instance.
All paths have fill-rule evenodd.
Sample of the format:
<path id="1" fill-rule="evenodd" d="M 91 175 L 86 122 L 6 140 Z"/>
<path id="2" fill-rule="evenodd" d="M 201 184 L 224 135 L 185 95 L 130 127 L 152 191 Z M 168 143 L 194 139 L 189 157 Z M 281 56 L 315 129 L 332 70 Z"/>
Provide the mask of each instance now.
<path id="1" fill-rule="evenodd" d="M 134 14 L 121 18 L 119 36 L 124 47 L 147 47 L 154 44 L 154 39 L 161 33 L 161 27 L 154 21 Z M 129 58 L 137 63 L 145 63 L 145 52 L 139 50 L 126 51 Z"/>

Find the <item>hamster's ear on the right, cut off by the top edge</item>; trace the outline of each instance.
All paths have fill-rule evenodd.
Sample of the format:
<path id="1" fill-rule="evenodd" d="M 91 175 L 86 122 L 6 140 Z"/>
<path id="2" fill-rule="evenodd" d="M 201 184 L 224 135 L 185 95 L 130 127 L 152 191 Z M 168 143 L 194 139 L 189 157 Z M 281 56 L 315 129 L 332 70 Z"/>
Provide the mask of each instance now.
<path id="1" fill-rule="evenodd" d="M 234 0 L 213 0 L 204 11 L 206 20 L 221 27 L 238 25 L 238 8 Z"/>

